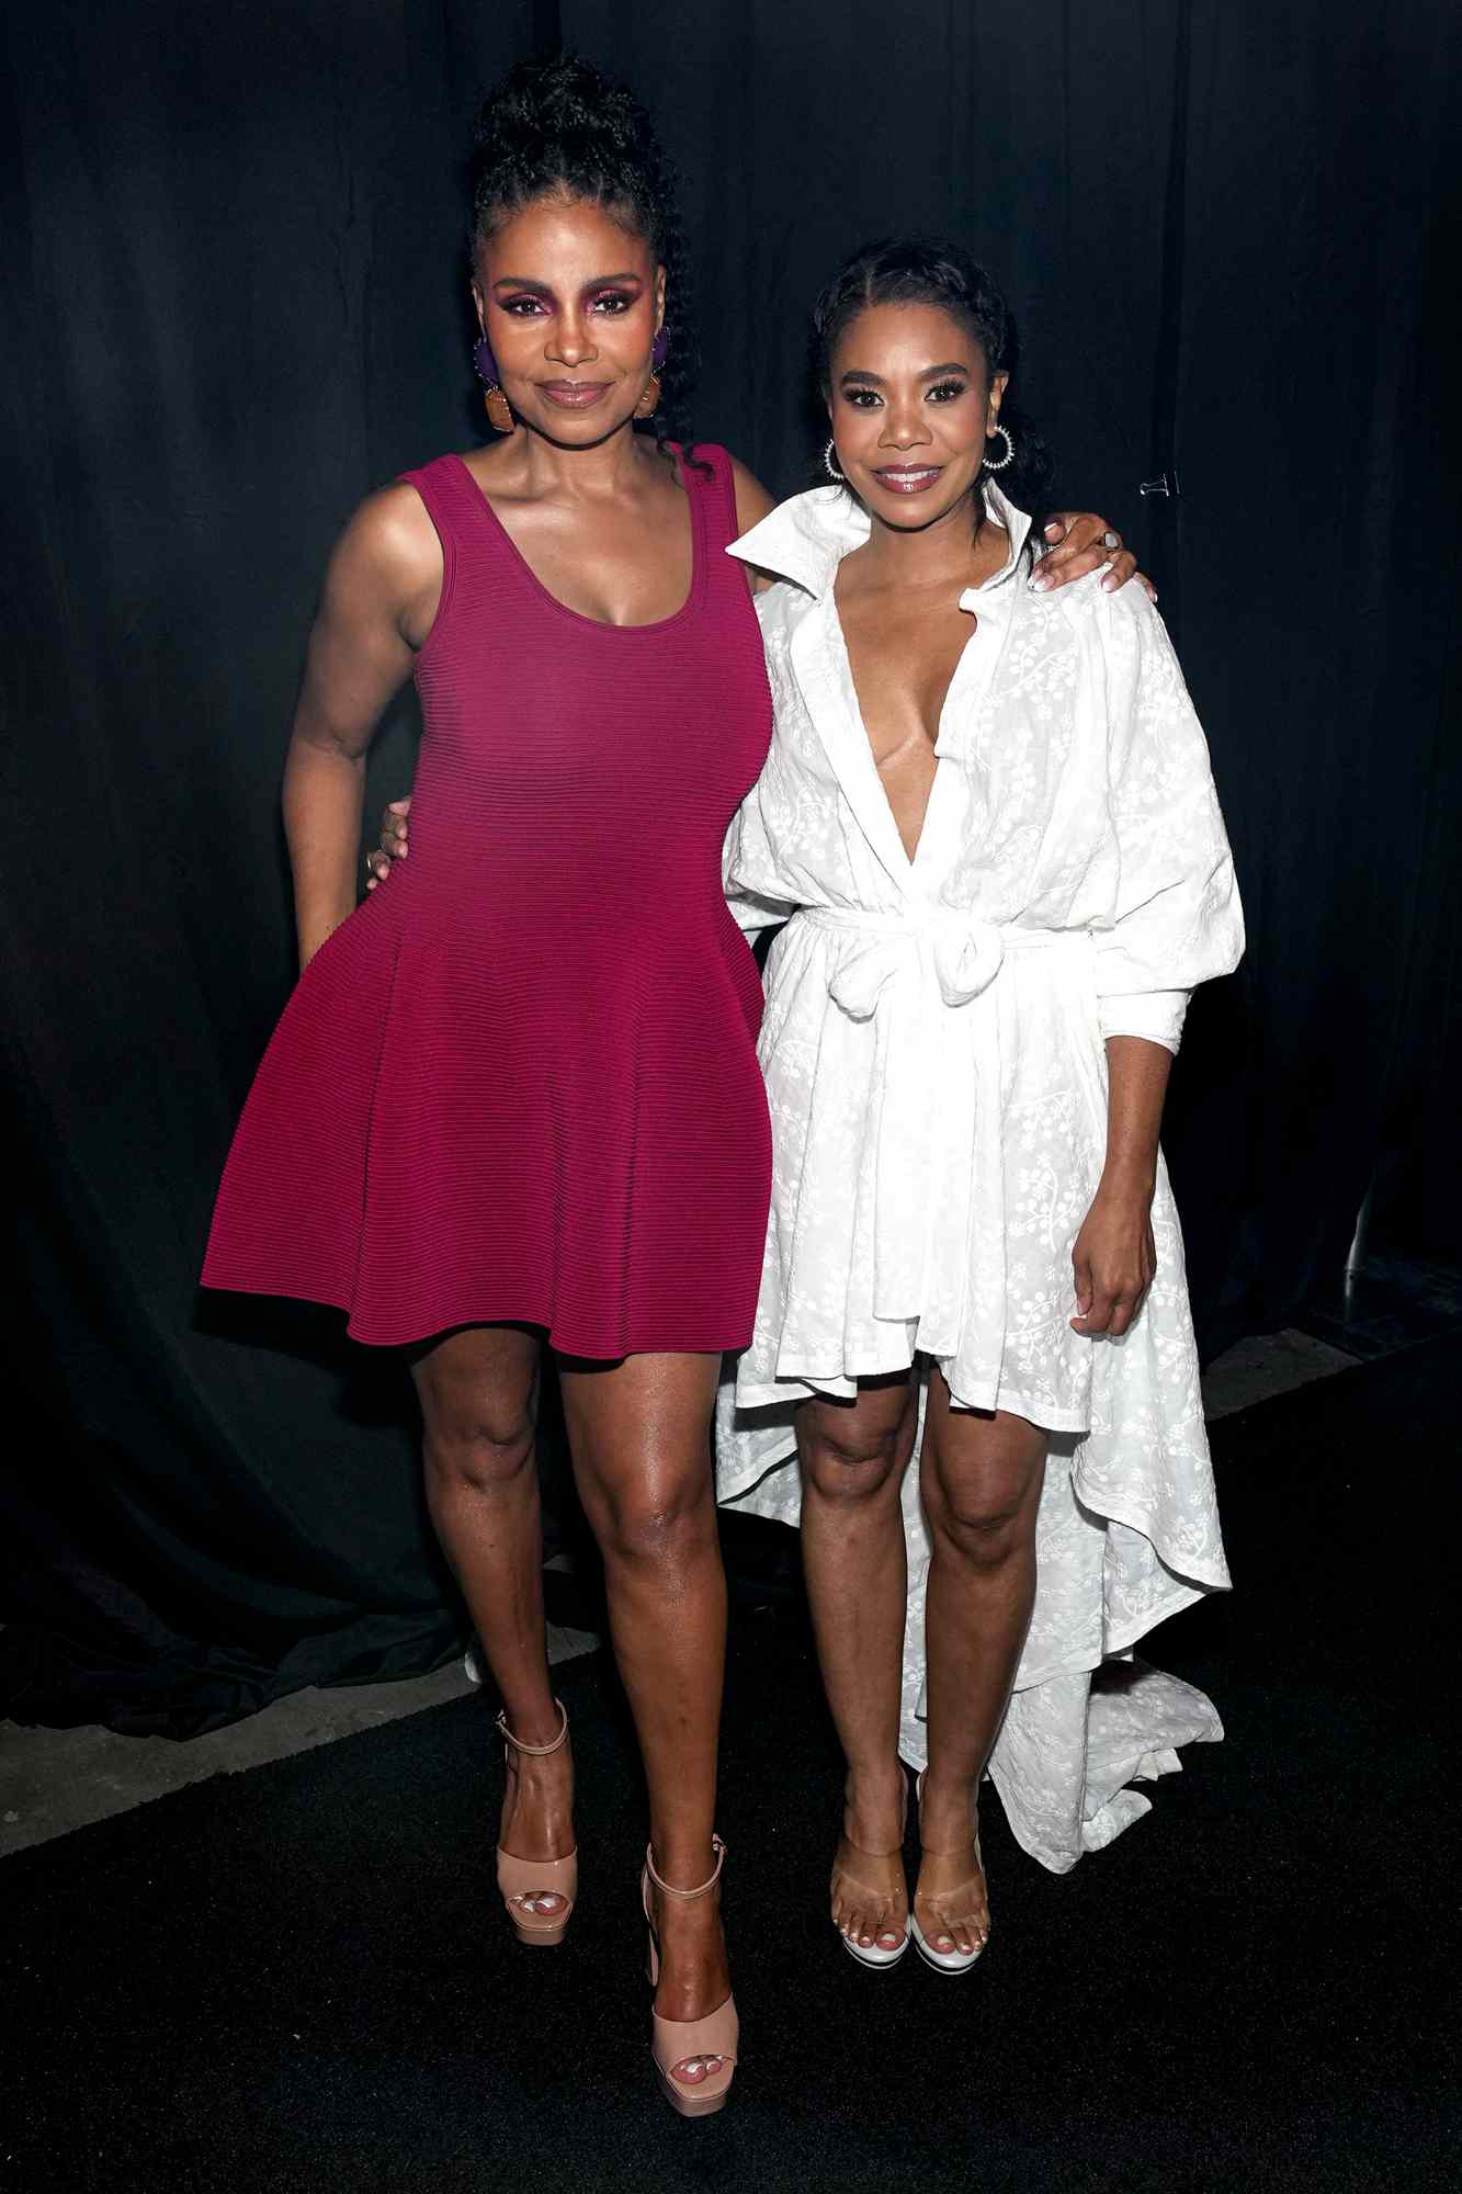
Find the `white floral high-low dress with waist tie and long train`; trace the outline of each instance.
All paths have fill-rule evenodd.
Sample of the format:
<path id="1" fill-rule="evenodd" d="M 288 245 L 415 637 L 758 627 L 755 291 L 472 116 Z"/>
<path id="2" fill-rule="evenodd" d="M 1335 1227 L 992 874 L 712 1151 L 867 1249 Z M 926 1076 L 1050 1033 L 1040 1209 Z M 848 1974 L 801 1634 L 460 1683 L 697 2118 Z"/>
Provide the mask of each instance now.
<path id="1" fill-rule="evenodd" d="M 1106 1036 L 1177 1051 L 1188 992 L 1238 963 L 1242 917 L 1203 733 L 1139 586 L 961 595 L 913 860 L 858 715 L 836 566 L 869 522 L 841 489 L 779 505 L 731 555 L 757 599 L 773 750 L 727 838 L 746 928 L 790 915 L 760 1058 L 773 1200 L 755 1334 L 718 1402 L 718 1494 L 797 1523 L 797 1400 L 937 1362 L 955 1404 L 1051 1433 L 1038 1586 L 990 1775 L 1056 1871 L 1148 1810 L 1131 1782 L 1221 1738 L 1210 1700 L 1131 1659 L 1227 1586 L 1159 1161 L 1157 1279 L 1128 1334 L 1071 1332 L 1071 1246 L 1106 1150 Z M 902 1751 L 924 1764 L 918 1468 L 904 1483 Z M 1117 1663 L 1102 1672 L 1102 1663 Z M 1098 1674 L 1102 1672 L 1102 1674 Z M 1095 1678 L 1095 1681 L 1093 1681 Z"/>

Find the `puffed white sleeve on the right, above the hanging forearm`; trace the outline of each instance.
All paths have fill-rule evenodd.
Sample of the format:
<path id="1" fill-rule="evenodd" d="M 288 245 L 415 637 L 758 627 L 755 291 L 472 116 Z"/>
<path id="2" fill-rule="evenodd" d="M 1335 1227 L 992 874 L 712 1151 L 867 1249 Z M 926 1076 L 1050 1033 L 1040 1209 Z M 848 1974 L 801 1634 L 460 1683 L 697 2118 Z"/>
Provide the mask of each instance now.
<path id="1" fill-rule="evenodd" d="M 1117 889 L 1111 928 L 1095 935 L 1100 1025 L 1102 1036 L 1177 1051 L 1190 992 L 1238 965 L 1245 921 L 1207 742 L 1168 630 L 1137 586 L 1106 601 Z"/>

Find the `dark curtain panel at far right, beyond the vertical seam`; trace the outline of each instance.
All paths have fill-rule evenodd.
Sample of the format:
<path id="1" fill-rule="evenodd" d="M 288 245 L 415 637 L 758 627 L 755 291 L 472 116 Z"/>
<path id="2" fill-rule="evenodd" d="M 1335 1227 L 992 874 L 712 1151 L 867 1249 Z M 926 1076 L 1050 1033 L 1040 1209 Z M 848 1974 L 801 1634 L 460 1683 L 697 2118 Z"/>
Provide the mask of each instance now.
<path id="1" fill-rule="evenodd" d="M 1460 33 L 1447 4 L 1194 9 L 1172 546 L 1251 932 L 1172 1115 L 1212 1336 L 1335 1286 L 1387 1136 L 1451 1178 L 1462 1248 Z M 1451 919 L 1455 952 L 1455 891 Z"/>

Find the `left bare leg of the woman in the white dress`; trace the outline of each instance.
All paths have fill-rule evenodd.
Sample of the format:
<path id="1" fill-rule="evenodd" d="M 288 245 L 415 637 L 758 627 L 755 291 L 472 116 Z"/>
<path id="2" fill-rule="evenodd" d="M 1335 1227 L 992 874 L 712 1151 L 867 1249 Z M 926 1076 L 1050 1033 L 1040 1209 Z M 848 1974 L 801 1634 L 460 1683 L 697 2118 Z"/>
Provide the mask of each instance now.
<path id="1" fill-rule="evenodd" d="M 907 1371 L 854 1402 L 797 1411 L 801 1560 L 817 1659 L 847 1760 L 832 1924 L 863 1948 L 904 1939 L 904 1771 L 898 1762 L 909 1577 L 900 1488 L 918 1422 Z M 882 1854 L 882 1856 L 878 1856 Z"/>

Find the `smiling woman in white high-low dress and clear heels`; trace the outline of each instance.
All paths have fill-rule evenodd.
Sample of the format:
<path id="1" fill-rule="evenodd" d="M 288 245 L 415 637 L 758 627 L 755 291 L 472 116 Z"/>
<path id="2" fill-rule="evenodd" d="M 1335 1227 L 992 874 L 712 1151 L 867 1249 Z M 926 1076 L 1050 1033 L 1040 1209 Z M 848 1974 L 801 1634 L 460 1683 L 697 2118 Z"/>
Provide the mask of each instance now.
<path id="1" fill-rule="evenodd" d="M 817 338 L 845 485 L 731 548 L 777 584 L 775 742 L 727 889 L 749 928 L 790 919 L 720 1499 L 801 1520 L 847 1755 L 843 1942 L 891 1964 L 911 1935 L 961 1972 L 990 1926 L 986 1768 L 1065 1871 L 1146 1812 L 1131 1782 L 1223 1733 L 1131 1648 L 1227 1586 L 1157 1132 L 1188 994 L 1242 921 L 1155 608 L 1041 586 L 988 276 L 874 246 Z M 913 1904 L 900 1753 L 924 1768 Z"/>

